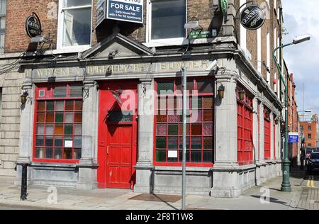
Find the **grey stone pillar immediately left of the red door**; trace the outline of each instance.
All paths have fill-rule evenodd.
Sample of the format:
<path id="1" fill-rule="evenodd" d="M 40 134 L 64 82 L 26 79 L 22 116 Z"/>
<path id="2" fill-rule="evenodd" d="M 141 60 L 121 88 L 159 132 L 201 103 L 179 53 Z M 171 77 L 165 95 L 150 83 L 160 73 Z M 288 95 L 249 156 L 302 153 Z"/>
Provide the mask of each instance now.
<path id="1" fill-rule="evenodd" d="M 99 93 L 92 81 L 84 82 L 82 109 L 82 157 L 77 189 L 96 189 Z"/>

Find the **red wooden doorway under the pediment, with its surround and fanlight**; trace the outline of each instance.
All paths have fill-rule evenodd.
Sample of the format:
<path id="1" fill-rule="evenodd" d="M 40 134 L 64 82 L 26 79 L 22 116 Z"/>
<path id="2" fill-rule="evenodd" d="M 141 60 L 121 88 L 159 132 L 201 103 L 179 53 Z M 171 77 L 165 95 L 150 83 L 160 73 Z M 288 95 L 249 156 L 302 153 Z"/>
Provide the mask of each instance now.
<path id="1" fill-rule="evenodd" d="M 104 82 L 99 94 L 99 188 L 133 189 L 137 162 L 137 82 Z M 114 93 L 121 94 L 117 97 Z"/>

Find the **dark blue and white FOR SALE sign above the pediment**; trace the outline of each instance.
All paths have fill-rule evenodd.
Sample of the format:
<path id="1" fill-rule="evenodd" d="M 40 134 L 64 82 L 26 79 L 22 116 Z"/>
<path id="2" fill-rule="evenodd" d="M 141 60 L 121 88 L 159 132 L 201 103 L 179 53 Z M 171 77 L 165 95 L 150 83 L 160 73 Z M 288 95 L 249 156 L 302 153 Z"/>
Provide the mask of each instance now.
<path id="1" fill-rule="evenodd" d="M 143 0 L 108 0 L 106 18 L 143 23 Z"/>

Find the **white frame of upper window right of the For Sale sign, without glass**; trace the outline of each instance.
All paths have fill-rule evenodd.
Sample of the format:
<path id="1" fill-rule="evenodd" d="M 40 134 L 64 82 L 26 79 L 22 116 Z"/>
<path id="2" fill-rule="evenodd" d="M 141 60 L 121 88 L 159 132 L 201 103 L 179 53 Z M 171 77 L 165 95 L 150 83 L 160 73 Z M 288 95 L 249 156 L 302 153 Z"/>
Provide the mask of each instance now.
<path id="1" fill-rule="evenodd" d="M 172 46 L 172 45 L 186 45 L 188 41 L 186 40 L 187 32 L 182 38 L 166 38 L 166 39 L 156 39 L 152 40 L 152 1 L 147 0 L 147 13 L 146 13 L 146 45 L 147 47 L 161 47 L 161 46 Z M 187 22 L 187 0 L 185 0 L 185 23 Z"/>

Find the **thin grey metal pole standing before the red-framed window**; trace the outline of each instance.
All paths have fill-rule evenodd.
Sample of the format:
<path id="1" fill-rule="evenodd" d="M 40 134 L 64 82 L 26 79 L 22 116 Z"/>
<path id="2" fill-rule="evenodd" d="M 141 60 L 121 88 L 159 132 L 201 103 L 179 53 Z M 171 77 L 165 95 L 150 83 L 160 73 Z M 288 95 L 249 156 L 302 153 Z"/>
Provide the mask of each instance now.
<path id="1" fill-rule="evenodd" d="M 181 210 L 185 210 L 186 204 L 186 108 L 187 108 L 187 70 L 182 67 L 183 75 L 183 171 L 181 183 Z"/>

